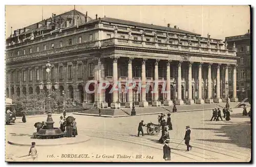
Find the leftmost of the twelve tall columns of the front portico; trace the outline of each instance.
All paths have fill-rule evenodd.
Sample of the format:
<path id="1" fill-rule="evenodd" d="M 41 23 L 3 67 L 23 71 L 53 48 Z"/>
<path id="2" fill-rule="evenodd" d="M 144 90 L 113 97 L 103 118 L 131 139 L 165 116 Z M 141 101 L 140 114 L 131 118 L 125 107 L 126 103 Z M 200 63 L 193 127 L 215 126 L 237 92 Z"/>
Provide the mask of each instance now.
<path id="1" fill-rule="evenodd" d="M 120 103 L 117 103 L 118 100 L 118 68 L 117 60 L 118 56 L 113 56 L 113 102 L 111 103 L 111 108 L 120 108 Z"/>

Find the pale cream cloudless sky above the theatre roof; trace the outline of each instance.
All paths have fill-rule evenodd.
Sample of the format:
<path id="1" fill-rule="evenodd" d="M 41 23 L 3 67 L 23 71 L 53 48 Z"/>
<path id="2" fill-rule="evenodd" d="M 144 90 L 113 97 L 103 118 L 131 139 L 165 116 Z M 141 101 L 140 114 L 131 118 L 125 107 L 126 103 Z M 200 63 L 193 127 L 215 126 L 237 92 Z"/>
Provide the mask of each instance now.
<path id="1" fill-rule="evenodd" d="M 6 38 L 14 30 L 24 28 L 73 10 L 74 6 L 6 6 Z M 112 17 L 153 25 L 178 26 L 182 30 L 201 34 L 207 33 L 214 39 L 243 35 L 250 29 L 249 6 L 75 6 L 75 9 L 95 19 Z"/>

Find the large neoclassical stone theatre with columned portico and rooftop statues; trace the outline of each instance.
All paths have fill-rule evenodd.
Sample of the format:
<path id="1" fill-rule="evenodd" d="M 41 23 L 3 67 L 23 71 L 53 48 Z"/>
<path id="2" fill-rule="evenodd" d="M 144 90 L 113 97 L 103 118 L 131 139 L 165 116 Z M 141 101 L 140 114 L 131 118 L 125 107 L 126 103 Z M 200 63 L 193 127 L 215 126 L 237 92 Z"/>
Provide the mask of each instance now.
<path id="1" fill-rule="evenodd" d="M 83 104 L 100 102 L 118 108 L 131 107 L 133 100 L 140 107 L 225 102 L 228 68 L 233 75 L 228 100 L 237 101 L 236 51 L 227 50 L 222 40 L 178 26 L 97 15 L 93 19 L 87 12 L 72 10 L 14 30 L 6 45 L 7 97 L 40 93 L 40 83 L 47 82 L 49 58 L 50 81 L 58 84 L 59 96 L 64 90 L 67 98 Z M 99 93 L 87 93 L 84 88 L 89 80 L 111 85 Z M 126 92 L 127 80 L 141 82 L 141 87 L 151 84 L 148 91 L 136 85 Z M 110 93 L 116 81 L 121 88 Z M 90 84 L 88 89 L 95 87 Z"/>

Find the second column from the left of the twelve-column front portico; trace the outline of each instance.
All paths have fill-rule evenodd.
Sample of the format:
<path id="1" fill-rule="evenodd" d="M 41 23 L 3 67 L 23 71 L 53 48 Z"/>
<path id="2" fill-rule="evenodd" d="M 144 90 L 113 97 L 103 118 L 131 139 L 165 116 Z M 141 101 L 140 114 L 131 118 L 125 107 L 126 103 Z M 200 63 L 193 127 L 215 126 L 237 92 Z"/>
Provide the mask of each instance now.
<path id="1" fill-rule="evenodd" d="M 129 89 L 127 90 L 128 94 L 127 94 L 127 102 L 125 103 L 125 107 L 126 108 L 132 108 L 133 107 L 133 88 L 132 88 L 132 80 L 133 80 L 133 59 L 134 58 L 129 58 L 128 61 L 128 83 L 129 85 L 127 85 L 129 87 Z"/>

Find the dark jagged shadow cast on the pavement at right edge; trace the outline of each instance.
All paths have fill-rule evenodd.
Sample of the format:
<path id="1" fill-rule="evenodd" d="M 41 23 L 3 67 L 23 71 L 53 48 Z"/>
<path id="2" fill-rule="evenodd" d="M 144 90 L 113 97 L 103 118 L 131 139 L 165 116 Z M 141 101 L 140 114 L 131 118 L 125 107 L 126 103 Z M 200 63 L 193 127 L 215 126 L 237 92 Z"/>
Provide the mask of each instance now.
<path id="1" fill-rule="evenodd" d="M 222 124 L 221 124 L 222 125 Z M 193 128 L 199 130 L 209 130 L 215 133 L 225 133 L 225 135 L 217 134 L 216 136 L 228 137 L 228 139 L 197 139 L 201 141 L 211 141 L 220 143 L 236 144 L 239 147 L 251 149 L 251 124 L 244 122 L 243 124 L 223 125 L 221 128 Z"/>

